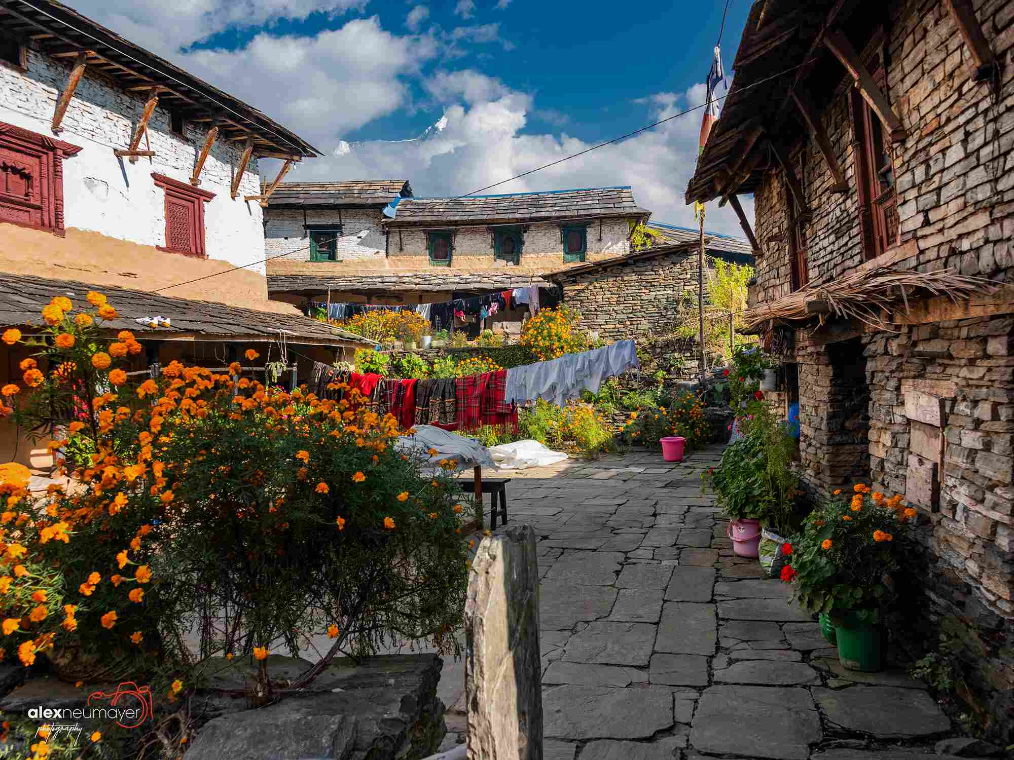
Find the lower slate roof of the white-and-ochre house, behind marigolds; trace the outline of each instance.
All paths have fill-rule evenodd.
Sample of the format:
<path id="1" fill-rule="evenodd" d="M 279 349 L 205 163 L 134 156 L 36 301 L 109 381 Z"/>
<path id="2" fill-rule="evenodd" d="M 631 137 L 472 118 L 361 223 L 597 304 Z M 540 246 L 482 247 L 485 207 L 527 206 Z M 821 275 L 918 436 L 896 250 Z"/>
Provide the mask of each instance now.
<path id="1" fill-rule="evenodd" d="M 40 312 L 54 296 L 67 296 L 78 306 L 84 303 L 89 290 L 104 293 L 117 309 L 117 318 L 103 322 L 102 326 L 114 334 L 123 329 L 131 330 L 139 340 L 203 335 L 214 340 L 256 343 L 277 340 L 279 330 L 285 330 L 286 337 L 293 344 L 341 346 L 353 341 L 373 345 L 359 335 L 296 314 L 276 314 L 213 301 L 192 301 L 104 285 L 7 274 L 0 278 L 0 327 L 42 326 L 44 321 Z M 136 321 L 138 317 L 151 316 L 166 317 L 172 325 L 153 328 Z"/>

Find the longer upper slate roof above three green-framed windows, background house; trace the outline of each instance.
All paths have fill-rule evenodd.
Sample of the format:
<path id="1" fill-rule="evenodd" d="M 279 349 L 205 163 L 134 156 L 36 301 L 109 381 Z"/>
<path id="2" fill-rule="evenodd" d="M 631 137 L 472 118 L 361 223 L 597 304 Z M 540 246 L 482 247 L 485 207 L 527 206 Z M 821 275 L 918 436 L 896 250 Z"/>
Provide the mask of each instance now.
<path id="1" fill-rule="evenodd" d="M 460 227 L 650 214 L 634 203 L 634 194 L 629 186 L 467 198 L 405 198 L 394 204 L 393 212 L 393 218 L 384 221 L 387 227 Z"/>

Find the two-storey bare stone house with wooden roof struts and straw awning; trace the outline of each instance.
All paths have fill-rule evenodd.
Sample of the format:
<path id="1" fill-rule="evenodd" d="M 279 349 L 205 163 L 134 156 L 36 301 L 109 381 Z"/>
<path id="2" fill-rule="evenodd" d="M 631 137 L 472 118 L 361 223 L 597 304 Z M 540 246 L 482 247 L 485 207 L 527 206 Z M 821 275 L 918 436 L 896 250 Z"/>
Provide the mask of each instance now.
<path id="1" fill-rule="evenodd" d="M 897 638 L 922 654 L 955 637 L 958 693 L 1005 742 L 1012 51 L 1011 0 L 754 3 L 686 194 L 753 194 L 747 316 L 798 376 L 804 480 L 871 482 L 918 509 L 922 569 Z"/>

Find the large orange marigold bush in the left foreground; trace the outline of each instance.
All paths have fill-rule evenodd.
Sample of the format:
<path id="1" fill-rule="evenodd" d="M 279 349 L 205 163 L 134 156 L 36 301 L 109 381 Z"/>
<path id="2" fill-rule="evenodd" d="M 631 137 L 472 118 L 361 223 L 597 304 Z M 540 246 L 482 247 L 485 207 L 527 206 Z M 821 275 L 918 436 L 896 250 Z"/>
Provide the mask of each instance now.
<path id="1" fill-rule="evenodd" d="M 114 307 L 88 300 L 99 309 L 72 317 L 55 299 L 45 332 L 18 335 L 38 349 L 26 375 L 55 368 L 22 395 L 18 421 L 64 431 L 51 450 L 87 439 L 78 450 L 94 453 L 66 492 L 0 475 L 0 656 L 28 665 L 79 651 L 131 674 L 178 671 L 191 688 L 197 658 L 295 655 L 324 632 L 338 631 L 324 661 L 391 641 L 456 650 L 458 491 L 395 451 L 393 417 L 357 404 L 358 391 L 337 402 L 234 381 L 238 363 L 215 374 L 172 362 L 157 381 L 101 392 L 123 360 L 97 333 Z M 118 343 L 140 351 L 129 331 Z"/>

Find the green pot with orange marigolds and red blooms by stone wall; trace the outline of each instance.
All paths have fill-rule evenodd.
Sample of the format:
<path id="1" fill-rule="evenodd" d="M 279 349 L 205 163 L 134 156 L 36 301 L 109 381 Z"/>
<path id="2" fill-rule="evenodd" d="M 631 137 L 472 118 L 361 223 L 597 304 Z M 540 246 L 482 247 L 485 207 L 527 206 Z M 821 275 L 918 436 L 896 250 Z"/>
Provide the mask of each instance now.
<path id="1" fill-rule="evenodd" d="M 783 546 L 781 577 L 792 584 L 793 601 L 834 625 L 839 660 L 850 670 L 883 668 L 881 610 L 892 598 L 891 576 L 909 548 L 915 516 L 901 497 L 887 499 L 859 483 L 851 493 L 831 493 Z"/>

